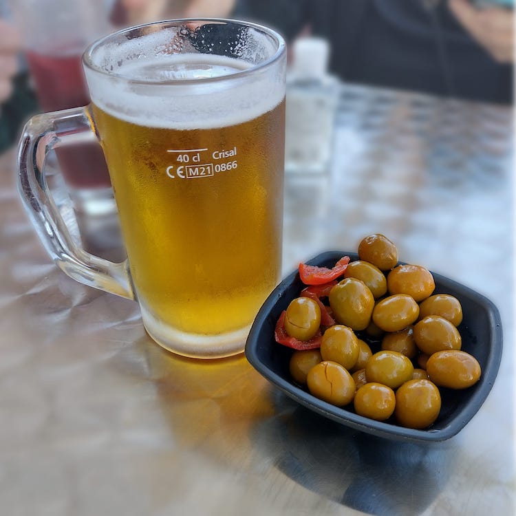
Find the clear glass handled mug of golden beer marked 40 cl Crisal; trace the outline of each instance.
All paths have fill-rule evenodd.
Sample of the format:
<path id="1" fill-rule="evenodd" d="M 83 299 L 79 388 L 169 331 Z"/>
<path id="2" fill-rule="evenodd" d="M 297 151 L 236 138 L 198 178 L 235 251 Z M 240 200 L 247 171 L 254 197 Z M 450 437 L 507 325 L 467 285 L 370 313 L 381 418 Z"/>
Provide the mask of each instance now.
<path id="1" fill-rule="evenodd" d="M 279 281 L 286 45 L 253 23 L 162 21 L 90 45 L 87 107 L 34 116 L 19 144 L 19 189 L 56 264 L 140 305 L 172 352 L 244 350 Z M 79 248 L 45 181 L 45 155 L 87 138 L 103 147 L 127 260 Z"/>

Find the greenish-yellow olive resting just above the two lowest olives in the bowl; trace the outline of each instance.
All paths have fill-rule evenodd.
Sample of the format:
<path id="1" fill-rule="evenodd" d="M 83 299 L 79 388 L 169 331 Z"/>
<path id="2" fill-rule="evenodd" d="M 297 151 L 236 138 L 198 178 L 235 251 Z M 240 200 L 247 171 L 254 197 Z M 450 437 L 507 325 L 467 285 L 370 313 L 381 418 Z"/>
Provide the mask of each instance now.
<path id="1" fill-rule="evenodd" d="M 407 356 L 396 351 L 379 351 L 367 361 L 365 377 L 368 382 L 383 383 L 396 389 L 412 378 L 413 370 Z"/>

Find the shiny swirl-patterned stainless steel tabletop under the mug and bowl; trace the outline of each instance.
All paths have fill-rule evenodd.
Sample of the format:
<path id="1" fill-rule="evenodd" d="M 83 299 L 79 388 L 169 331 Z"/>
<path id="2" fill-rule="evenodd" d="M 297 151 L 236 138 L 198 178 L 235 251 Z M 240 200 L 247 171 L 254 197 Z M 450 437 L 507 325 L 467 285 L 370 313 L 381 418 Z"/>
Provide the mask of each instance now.
<path id="1" fill-rule="evenodd" d="M 345 86 L 330 173 L 286 177 L 285 272 L 380 232 L 400 259 L 499 308 L 493 390 L 431 444 L 321 418 L 244 356 L 165 352 L 136 303 L 50 262 L 14 175 L 12 151 L 0 158 L 2 515 L 516 513 L 512 109 Z M 116 239 L 91 224 L 100 247 Z"/>

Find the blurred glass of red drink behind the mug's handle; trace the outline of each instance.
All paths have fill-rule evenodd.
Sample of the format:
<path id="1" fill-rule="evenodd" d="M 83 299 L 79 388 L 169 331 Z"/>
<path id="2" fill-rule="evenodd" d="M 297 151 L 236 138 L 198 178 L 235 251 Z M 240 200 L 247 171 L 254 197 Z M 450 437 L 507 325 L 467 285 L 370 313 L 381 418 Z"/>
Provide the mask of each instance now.
<path id="1" fill-rule="evenodd" d="M 87 105 L 81 56 L 89 43 L 111 30 L 105 1 L 11 0 L 11 9 L 41 109 Z M 57 147 L 56 157 L 76 211 L 115 211 L 104 154 L 93 135 Z"/>

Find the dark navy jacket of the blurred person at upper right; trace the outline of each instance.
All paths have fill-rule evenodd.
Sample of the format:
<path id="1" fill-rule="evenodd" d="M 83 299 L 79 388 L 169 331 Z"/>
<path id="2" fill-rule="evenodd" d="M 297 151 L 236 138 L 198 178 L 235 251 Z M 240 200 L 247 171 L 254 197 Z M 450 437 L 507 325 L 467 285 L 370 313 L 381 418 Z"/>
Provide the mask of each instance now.
<path id="1" fill-rule="evenodd" d="M 303 28 L 332 45 L 343 80 L 493 103 L 512 103 L 513 67 L 496 63 L 443 1 L 239 0 L 235 16 Z"/>

